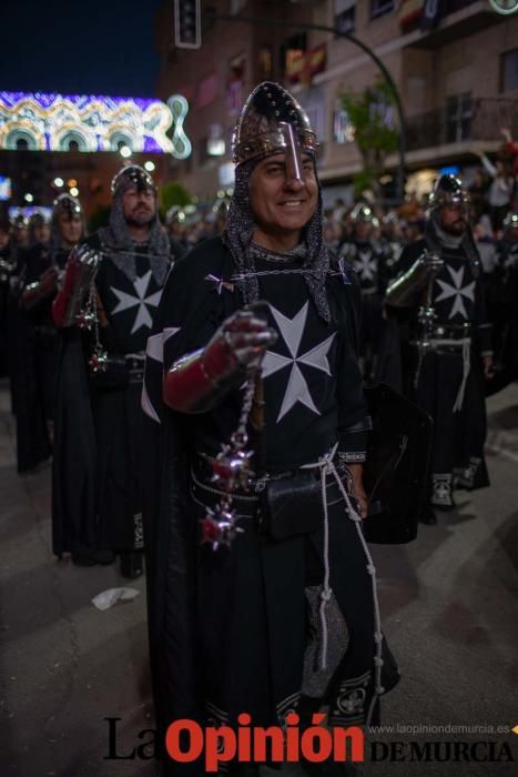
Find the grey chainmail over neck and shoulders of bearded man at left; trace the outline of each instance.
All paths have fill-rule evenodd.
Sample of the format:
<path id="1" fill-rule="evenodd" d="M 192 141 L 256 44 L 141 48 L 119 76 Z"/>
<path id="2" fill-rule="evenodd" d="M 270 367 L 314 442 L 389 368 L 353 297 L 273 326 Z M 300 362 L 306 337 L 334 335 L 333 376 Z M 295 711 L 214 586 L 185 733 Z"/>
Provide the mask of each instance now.
<path id="1" fill-rule="evenodd" d="M 145 254 L 150 260 L 150 269 L 156 283 L 163 285 L 169 270 L 170 242 L 166 233 L 162 230 L 156 212 L 148 240 L 138 243 L 132 240 L 128 231 L 128 222 L 124 216 L 124 188 L 121 186 L 113 195 L 112 209 L 110 211 L 109 226 L 101 226 L 99 236 L 106 255 L 113 264 L 134 283 L 136 281 L 136 258 L 135 253 Z"/>

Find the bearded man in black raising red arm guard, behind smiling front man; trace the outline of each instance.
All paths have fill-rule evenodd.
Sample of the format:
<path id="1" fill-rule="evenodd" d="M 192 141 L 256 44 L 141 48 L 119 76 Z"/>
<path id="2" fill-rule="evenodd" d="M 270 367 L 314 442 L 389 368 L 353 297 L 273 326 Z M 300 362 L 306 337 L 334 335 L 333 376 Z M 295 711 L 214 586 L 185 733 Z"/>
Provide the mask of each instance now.
<path id="1" fill-rule="evenodd" d="M 62 331 L 53 548 L 79 565 L 121 555 L 142 574 L 141 412 L 145 344 L 172 251 L 142 168 L 115 175 L 109 226 L 71 256 L 53 307 Z M 78 450 L 81 430 L 82 446 Z"/>

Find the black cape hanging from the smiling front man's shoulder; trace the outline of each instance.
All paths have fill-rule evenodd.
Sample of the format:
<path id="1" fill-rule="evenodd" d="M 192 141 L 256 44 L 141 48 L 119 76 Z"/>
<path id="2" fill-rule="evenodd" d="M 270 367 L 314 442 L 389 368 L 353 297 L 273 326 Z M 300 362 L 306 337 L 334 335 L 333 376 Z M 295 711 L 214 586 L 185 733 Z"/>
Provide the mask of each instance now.
<path id="1" fill-rule="evenodd" d="M 143 407 L 149 416 L 149 472 L 144 501 L 150 657 L 159 743 L 175 719 L 204 719 L 200 687 L 200 634 L 196 623 L 197 527 L 189 495 L 189 418 L 162 402 L 163 347 L 166 364 L 200 346 L 207 320 L 217 326 L 243 302 L 236 289 L 222 286 L 235 272 L 220 238 L 209 240 L 179 262 L 171 273 L 149 341 Z M 213 280 L 207 280 L 211 274 Z M 335 316 L 346 316 L 349 347 L 357 352 L 357 283 L 328 279 Z M 172 321 L 182 322 L 180 330 Z M 282 646 L 281 646 L 282 648 Z M 280 648 L 280 649 L 281 649 Z M 384 683 L 385 687 L 388 684 Z M 200 766 L 171 773 L 199 774 Z"/>

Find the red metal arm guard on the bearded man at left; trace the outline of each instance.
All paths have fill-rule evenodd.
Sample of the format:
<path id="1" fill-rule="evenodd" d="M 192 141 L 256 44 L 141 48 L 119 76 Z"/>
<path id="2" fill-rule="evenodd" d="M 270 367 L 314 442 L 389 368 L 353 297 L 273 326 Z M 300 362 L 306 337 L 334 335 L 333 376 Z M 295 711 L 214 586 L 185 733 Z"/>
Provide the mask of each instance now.
<path id="1" fill-rule="evenodd" d="M 101 254 L 88 245 L 73 251 L 67 263 L 61 291 L 52 306 L 52 317 L 58 327 L 73 326 L 95 278 Z"/>

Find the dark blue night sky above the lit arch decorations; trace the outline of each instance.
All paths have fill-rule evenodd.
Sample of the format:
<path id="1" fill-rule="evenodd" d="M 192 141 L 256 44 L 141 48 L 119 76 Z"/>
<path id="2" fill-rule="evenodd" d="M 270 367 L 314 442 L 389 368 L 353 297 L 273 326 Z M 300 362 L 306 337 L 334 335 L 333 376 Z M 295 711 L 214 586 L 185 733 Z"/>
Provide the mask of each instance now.
<path id="1" fill-rule="evenodd" d="M 163 0 L 1 0 L 0 90 L 154 97 Z"/>

